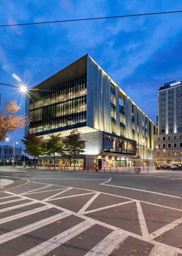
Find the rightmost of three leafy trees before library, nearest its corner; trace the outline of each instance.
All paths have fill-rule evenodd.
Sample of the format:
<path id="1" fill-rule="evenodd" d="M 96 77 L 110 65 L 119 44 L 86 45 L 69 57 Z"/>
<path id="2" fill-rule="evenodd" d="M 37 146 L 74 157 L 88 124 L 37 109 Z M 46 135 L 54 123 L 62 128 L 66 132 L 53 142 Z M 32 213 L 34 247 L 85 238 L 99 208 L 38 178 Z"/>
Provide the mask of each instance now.
<path id="1" fill-rule="evenodd" d="M 83 154 L 86 147 L 86 141 L 81 139 L 80 133 L 81 132 L 79 132 L 78 129 L 74 129 L 70 132 L 70 135 L 66 136 L 63 140 L 63 143 L 65 144 L 64 156 L 68 159 L 74 159 L 74 171 L 76 155 Z"/>

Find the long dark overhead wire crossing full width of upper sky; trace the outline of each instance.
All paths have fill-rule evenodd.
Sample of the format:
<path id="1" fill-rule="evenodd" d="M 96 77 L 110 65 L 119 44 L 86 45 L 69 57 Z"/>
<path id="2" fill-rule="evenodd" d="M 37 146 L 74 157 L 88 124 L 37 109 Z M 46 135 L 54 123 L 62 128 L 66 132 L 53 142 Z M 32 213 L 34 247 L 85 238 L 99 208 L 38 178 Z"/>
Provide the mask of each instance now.
<path id="1" fill-rule="evenodd" d="M 124 18 L 124 17 L 156 15 L 156 14 L 170 14 L 170 13 L 177 13 L 177 12 L 182 12 L 182 11 L 174 11 L 174 12 L 156 12 L 156 13 L 147 13 L 147 14 L 132 14 L 132 15 L 121 15 L 121 16 L 89 18 L 89 19 L 71 19 L 71 20 L 57 20 L 57 21 L 45 21 L 45 22 L 32 22 L 32 23 L 22 23 L 22 24 L 0 25 L 0 27 L 25 26 L 25 25 L 48 24 L 48 23 L 59 23 L 59 22 L 73 22 L 73 21 L 83 21 L 83 20 L 96 20 L 96 19 L 113 19 L 113 18 Z"/>

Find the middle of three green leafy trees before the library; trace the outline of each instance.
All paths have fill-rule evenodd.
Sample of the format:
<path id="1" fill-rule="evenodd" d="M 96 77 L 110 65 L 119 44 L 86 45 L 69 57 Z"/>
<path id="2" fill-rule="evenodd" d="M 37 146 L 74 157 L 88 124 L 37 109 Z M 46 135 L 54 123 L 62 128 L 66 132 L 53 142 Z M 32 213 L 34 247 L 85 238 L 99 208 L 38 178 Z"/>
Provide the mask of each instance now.
<path id="1" fill-rule="evenodd" d="M 62 143 L 61 133 L 49 135 L 49 139 L 43 143 L 44 154 L 48 156 L 54 156 L 54 170 L 55 170 L 55 156 L 63 155 L 64 144 Z"/>

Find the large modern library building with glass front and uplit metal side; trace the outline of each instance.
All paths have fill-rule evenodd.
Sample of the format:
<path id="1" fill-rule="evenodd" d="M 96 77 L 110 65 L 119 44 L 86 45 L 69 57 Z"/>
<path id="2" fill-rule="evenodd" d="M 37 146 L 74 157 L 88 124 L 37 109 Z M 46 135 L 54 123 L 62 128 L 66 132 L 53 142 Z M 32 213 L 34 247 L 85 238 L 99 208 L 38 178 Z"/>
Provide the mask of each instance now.
<path id="1" fill-rule="evenodd" d="M 81 132 L 87 143 L 76 157 L 78 166 L 153 165 L 157 126 L 89 54 L 30 90 L 26 113 L 31 124 L 25 133 L 47 139 L 50 133 L 64 138 L 72 129 Z M 38 163 L 46 165 L 47 159 L 52 161 L 40 156 Z M 56 164 L 72 162 L 56 156 Z"/>

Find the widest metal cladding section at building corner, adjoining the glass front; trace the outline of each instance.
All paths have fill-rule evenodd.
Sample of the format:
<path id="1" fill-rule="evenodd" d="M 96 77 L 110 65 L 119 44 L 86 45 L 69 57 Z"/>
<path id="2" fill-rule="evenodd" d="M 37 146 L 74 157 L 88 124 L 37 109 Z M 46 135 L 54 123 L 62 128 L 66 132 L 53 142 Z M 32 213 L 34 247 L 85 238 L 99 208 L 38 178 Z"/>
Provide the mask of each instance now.
<path id="1" fill-rule="evenodd" d="M 111 79 L 88 56 L 87 125 L 111 133 Z"/>

